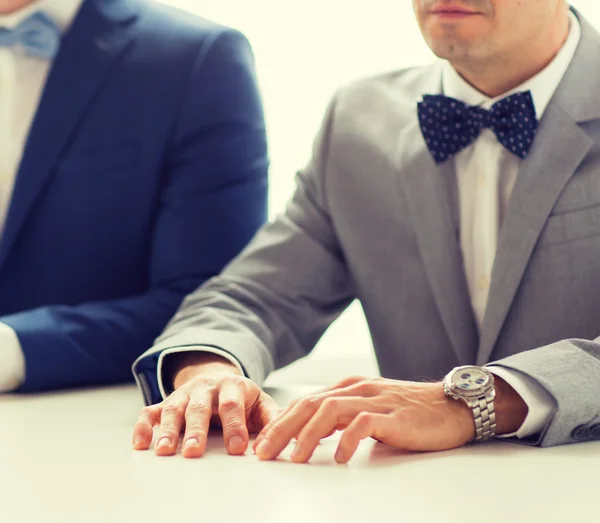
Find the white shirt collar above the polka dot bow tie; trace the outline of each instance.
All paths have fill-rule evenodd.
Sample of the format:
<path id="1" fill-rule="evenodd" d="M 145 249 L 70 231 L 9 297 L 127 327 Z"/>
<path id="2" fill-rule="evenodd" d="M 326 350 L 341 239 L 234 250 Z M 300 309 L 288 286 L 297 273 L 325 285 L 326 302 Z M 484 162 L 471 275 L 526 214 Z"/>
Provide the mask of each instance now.
<path id="1" fill-rule="evenodd" d="M 569 11 L 571 21 L 569 36 L 561 50 L 554 59 L 538 74 L 523 84 L 504 93 L 496 98 L 489 98 L 469 85 L 450 65 L 445 61 L 442 70 L 442 86 L 446 96 L 456 98 L 468 105 L 480 106 L 489 109 L 498 100 L 510 96 L 516 92 L 531 91 L 538 120 L 542 118 L 546 107 L 550 103 L 558 84 L 563 79 L 571 60 L 575 55 L 579 40 L 581 39 L 581 24 L 572 11 Z"/>

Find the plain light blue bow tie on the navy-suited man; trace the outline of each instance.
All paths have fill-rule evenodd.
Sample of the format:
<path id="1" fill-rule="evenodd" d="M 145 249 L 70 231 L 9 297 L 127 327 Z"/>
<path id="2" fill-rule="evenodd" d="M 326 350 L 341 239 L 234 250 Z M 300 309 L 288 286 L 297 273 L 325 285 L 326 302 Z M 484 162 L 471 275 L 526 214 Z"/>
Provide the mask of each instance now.
<path id="1" fill-rule="evenodd" d="M 34 13 L 14 29 L 0 29 L 0 47 L 21 46 L 27 54 L 50 60 L 60 47 L 61 31 L 44 13 Z"/>

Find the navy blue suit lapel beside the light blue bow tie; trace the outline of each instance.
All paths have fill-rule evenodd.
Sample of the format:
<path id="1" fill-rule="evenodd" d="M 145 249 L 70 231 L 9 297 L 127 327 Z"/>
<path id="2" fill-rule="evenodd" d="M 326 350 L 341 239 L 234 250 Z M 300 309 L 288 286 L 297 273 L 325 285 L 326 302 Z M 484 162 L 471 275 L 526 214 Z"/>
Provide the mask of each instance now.
<path id="1" fill-rule="evenodd" d="M 64 36 L 17 173 L 0 242 L 0 268 L 103 79 L 129 42 L 135 14 L 131 0 L 87 0 Z"/>

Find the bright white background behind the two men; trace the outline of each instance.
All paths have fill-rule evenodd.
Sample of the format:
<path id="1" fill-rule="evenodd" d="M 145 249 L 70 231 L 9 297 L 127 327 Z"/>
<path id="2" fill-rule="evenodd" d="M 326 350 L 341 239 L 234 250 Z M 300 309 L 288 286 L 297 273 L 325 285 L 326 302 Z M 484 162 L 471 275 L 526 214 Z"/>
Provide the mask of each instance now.
<path id="1" fill-rule="evenodd" d="M 163 2 L 235 27 L 249 38 L 269 134 L 271 215 L 279 213 L 289 198 L 295 172 L 308 161 L 323 112 L 338 86 L 433 59 L 419 33 L 411 0 Z M 573 0 L 572 5 L 600 27 L 598 0 Z M 340 341 L 326 344 L 331 354 L 369 350 L 357 308 L 333 330 Z"/>

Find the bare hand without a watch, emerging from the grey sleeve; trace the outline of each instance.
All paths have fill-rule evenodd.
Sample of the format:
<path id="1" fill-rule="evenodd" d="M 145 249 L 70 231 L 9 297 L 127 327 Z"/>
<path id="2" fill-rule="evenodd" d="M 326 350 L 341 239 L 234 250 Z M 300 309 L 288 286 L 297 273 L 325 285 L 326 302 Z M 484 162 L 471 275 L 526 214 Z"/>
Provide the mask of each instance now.
<path id="1" fill-rule="evenodd" d="M 185 426 L 183 456 L 204 454 L 211 421 L 223 428 L 227 451 L 244 454 L 249 432 L 258 432 L 278 413 L 275 401 L 230 362 L 214 355 L 202 355 L 200 363 L 184 366 L 174 380 L 175 392 L 157 405 L 142 409 L 133 430 L 133 446 L 147 450 L 153 428 L 160 426 L 156 453 L 175 454 Z"/>

